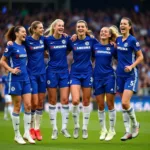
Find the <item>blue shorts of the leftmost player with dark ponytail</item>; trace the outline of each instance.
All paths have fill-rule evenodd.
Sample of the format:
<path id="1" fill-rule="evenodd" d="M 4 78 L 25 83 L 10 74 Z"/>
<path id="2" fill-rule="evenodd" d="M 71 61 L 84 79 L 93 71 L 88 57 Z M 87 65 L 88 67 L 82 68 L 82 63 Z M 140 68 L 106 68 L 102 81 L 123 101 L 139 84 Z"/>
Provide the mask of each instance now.
<path id="1" fill-rule="evenodd" d="M 8 84 L 9 86 L 9 95 L 23 95 L 31 93 L 31 84 L 30 81 L 11 81 Z"/>

